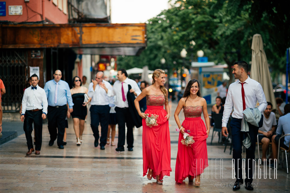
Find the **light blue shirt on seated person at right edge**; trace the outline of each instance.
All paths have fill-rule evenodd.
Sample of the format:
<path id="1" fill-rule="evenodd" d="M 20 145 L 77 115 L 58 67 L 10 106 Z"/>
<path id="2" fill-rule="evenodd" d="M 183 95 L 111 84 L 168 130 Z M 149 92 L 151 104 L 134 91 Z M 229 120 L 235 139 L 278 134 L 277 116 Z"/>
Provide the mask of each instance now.
<path id="1" fill-rule="evenodd" d="M 290 113 L 279 118 L 278 127 L 276 130 L 277 135 L 282 135 L 283 131 L 285 134 L 290 133 Z M 290 136 L 285 136 L 284 144 L 289 147 Z"/>

